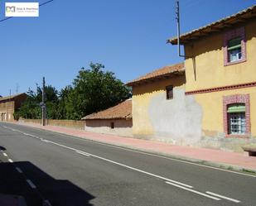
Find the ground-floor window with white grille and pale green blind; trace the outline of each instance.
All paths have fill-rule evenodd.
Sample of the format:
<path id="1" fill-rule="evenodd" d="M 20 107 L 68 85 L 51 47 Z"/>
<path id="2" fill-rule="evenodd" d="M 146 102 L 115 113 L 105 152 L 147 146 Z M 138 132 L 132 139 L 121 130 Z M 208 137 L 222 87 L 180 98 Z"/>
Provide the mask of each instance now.
<path id="1" fill-rule="evenodd" d="M 244 103 L 231 104 L 228 107 L 229 134 L 244 135 L 246 132 Z"/>

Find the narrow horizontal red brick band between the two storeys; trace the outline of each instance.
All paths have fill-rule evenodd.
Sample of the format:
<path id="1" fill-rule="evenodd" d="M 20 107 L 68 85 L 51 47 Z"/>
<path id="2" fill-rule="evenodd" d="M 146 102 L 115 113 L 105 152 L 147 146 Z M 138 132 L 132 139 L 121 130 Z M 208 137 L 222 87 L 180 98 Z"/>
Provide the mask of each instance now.
<path id="1" fill-rule="evenodd" d="M 255 87 L 256 82 L 246 83 L 246 84 L 234 84 L 229 85 L 225 87 L 215 87 L 210 89 L 200 89 L 200 90 L 194 90 L 191 92 L 186 92 L 186 95 L 195 94 L 195 93 L 212 93 L 212 92 L 219 92 L 224 90 L 231 90 L 231 89 L 241 89 L 241 88 L 248 88 L 248 87 Z"/>

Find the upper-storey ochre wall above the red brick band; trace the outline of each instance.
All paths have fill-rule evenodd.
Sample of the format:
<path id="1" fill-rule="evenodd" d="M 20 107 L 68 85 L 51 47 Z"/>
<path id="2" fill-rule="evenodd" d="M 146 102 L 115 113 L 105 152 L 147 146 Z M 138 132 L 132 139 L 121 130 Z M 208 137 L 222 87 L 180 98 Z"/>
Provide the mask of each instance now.
<path id="1" fill-rule="evenodd" d="M 224 65 L 224 34 L 244 26 L 247 60 L 236 65 Z M 186 55 L 196 56 L 185 60 L 186 92 L 210 89 L 233 84 L 256 82 L 256 21 L 232 27 L 221 33 L 201 37 L 185 46 Z M 196 79 L 195 79 L 196 73 Z"/>

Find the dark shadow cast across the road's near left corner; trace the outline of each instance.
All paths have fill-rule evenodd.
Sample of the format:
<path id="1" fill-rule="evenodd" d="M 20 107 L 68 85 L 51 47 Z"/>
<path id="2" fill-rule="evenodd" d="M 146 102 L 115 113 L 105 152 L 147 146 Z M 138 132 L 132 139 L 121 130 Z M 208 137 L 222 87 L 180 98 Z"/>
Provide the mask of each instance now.
<path id="1" fill-rule="evenodd" d="M 16 169 L 21 169 L 25 175 Z M 27 180 L 36 185 L 32 189 Z M 28 206 L 42 205 L 48 199 L 52 206 L 93 206 L 94 196 L 80 189 L 69 180 L 56 180 L 29 161 L 15 163 L 0 162 L 0 194 L 23 196 Z"/>

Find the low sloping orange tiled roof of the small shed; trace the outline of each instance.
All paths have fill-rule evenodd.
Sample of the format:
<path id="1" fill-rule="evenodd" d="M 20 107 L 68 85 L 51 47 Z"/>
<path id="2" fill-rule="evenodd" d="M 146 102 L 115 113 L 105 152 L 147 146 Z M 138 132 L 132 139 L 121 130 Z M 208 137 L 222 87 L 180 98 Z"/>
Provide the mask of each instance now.
<path id="1" fill-rule="evenodd" d="M 132 118 L 132 99 L 124 101 L 123 103 L 119 103 L 118 105 L 107 108 L 104 111 L 99 113 L 92 113 L 85 117 L 83 120 L 88 119 L 130 119 Z"/>

